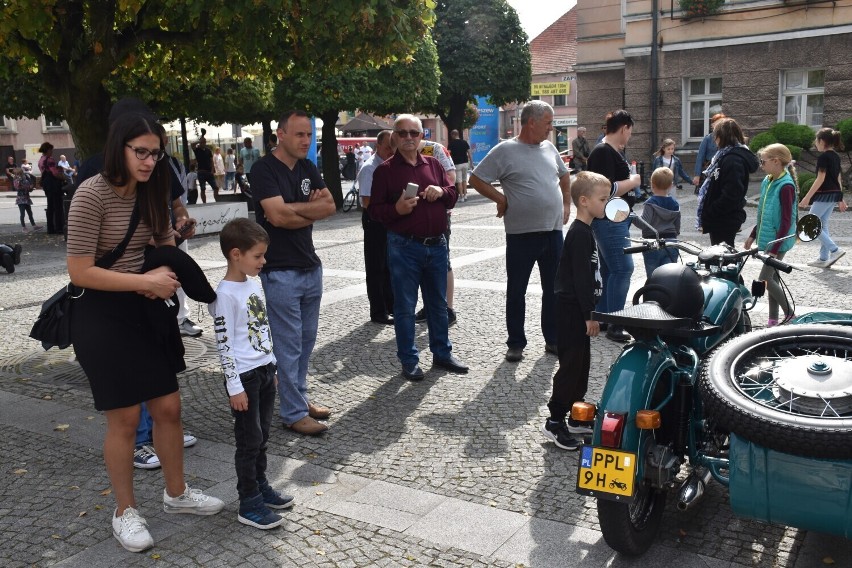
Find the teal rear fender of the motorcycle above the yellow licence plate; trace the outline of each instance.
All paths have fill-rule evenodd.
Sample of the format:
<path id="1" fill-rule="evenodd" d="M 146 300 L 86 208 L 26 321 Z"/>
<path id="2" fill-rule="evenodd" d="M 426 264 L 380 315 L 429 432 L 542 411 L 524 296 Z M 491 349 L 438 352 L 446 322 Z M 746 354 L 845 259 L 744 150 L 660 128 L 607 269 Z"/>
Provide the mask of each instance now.
<path id="1" fill-rule="evenodd" d="M 650 398 L 663 371 L 674 367 L 670 357 L 662 355 L 661 349 L 649 349 L 647 345 L 631 344 L 625 347 L 610 368 L 598 405 L 598 422 L 593 443 L 601 445 L 600 424 L 604 413 L 615 412 L 626 415 L 620 449 L 635 452 L 637 477 L 643 476 L 645 448 L 640 447 L 642 430 L 636 427 L 636 411 L 648 408 Z"/>

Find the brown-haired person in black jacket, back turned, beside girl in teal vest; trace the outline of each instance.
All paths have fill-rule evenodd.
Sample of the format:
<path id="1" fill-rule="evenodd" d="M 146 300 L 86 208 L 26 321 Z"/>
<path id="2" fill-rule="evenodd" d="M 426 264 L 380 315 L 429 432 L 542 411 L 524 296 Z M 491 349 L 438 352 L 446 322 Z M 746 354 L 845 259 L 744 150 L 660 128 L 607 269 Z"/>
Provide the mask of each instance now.
<path id="1" fill-rule="evenodd" d="M 745 198 L 749 175 L 758 161 L 745 145 L 743 131 L 733 118 L 713 124 L 713 138 L 719 151 L 704 170 L 704 183 L 698 191 L 698 220 L 710 243 L 734 246 L 734 237 L 746 220 Z"/>

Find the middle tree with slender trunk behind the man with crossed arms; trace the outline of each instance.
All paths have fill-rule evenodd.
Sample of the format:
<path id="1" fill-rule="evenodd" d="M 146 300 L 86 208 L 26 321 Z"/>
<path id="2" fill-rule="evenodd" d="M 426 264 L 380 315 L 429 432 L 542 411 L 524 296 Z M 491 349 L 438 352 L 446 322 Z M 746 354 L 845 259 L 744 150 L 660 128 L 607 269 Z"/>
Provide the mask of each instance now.
<path id="1" fill-rule="evenodd" d="M 335 133 L 338 113 L 358 108 L 386 116 L 416 112 L 435 103 L 440 72 L 432 36 L 425 34 L 414 47 L 410 56 L 381 66 L 321 75 L 299 73 L 275 87 L 276 108 L 302 109 L 322 119 L 323 176 L 338 207 L 343 203 Z"/>

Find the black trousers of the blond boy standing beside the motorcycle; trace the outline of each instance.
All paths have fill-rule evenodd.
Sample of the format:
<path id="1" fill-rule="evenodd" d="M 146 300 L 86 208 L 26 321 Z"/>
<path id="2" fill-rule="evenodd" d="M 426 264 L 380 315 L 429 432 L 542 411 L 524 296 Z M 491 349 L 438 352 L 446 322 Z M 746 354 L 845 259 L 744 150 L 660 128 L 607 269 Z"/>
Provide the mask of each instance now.
<path id="1" fill-rule="evenodd" d="M 556 297 L 559 368 L 553 375 L 553 394 L 547 408 L 550 418 L 564 420 L 575 402 L 582 402 L 589 388 L 591 339 L 586 335 L 586 320 L 580 306 Z"/>

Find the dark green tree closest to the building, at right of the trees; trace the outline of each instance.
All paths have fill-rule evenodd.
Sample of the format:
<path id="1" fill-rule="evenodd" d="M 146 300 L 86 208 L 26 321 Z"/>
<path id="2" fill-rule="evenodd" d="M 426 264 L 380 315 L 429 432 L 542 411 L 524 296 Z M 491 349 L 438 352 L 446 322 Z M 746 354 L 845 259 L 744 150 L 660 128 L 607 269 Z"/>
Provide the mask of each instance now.
<path id="1" fill-rule="evenodd" d="M 527 34 L 506 0 L 439 0 L 435 14 L 441 90 L 432 112 L 448 129 L 463 129 L 477 95 L 497 106 L 529 98 Z"/>

